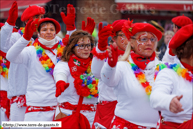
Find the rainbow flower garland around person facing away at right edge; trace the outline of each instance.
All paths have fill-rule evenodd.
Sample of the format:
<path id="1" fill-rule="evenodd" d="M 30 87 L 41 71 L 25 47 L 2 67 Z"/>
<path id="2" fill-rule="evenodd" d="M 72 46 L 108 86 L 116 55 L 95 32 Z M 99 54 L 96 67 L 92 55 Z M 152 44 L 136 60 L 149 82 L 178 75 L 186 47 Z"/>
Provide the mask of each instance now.
<path id="1" fill-rule="evenodd" d="M 158 64 L 158 65 L 156 66 L 156 72 L 155 72 L 155 75 L 154 75 L 154 80 L 156 79 L 158 72 L 161 71 L 161 70 L 164 69 L 164 68 L 172 69 L 172 70 L 174 70 L 179 76 L 181 76 L 182 78 L 184 78 L 185 80 L 187 80 L 187 81 L 189 81 L 189 82 L 193 82 L 193 74 L 190 74 L 190 73 L 188 72 L 188 69 L 182 68 L 182 67 L 180 66 L 180 64 L 168 64 L 168 63 Z"/>

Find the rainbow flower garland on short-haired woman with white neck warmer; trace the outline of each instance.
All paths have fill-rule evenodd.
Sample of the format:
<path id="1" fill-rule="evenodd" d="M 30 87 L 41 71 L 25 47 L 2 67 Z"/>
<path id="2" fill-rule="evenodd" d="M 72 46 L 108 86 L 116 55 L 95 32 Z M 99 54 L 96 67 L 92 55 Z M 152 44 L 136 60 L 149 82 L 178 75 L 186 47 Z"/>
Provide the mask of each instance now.
<path id="1" fill-rule="evenodd" d="M 33 46 L 36 49 L 37 56 L 39 58 L 39 61 L 41 62 L 42 66 L 46 70 L 46 72 L 50 73 L 53 76 L 53 70 L 54 70 L 54 63 L 50 59 L 50 57 L 46 54 L 45 49 L 43 49 L 38 42 L 35 42 Z M 63 53 L 64 45 L 62 41 L 59 41 L 57 46 L 57 62 L 61 60 L 61 56 Z"/>

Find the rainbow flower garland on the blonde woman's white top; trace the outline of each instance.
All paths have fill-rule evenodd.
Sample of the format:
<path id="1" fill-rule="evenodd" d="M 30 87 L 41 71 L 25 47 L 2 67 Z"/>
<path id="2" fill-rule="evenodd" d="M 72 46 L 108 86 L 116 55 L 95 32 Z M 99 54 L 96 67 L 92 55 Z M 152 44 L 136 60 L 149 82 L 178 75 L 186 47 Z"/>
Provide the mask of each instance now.
<path id="1" fill-rule="evenodd" d="M 146 94 L 148 96 L 150 96 L 151 91 L 152 91 L 152 86 L 146 80 L 145 74 L 142 72 L 142 70 L 136 64 L 131 63 L 131 62 L 129 62 L 129 64 L 131 65 L 131 68 L 134 71 L 135 77 L 137 78 L 139 83 L 145 88 Z"/>

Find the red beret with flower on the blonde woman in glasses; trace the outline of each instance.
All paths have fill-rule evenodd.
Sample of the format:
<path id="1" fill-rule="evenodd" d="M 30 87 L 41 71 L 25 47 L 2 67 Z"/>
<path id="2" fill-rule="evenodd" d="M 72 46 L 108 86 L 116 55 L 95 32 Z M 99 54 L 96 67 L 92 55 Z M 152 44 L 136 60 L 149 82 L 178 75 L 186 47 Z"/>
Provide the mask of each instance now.
<path id="1" fill-rule="evenodd" d="M 134 23 L 128 19 L 123 25 L 122 31 L 125 33 L 126 37 L 130 39 L 131 36 L 134 36 L 138 32 L 151 32 L 153 33 L 158 41 L 162 37 L 162 32 L 156 29 L 153 25 L 149 23 Z"/>

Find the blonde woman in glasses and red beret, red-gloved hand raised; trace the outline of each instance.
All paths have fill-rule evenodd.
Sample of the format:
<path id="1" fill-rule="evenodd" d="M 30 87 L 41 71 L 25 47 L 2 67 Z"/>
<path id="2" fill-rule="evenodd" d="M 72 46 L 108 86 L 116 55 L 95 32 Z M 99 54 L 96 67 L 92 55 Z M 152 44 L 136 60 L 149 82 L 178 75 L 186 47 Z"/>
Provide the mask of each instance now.
<path id="1" fill-rule="evenodd" d="M 130 20 L 122 31 L 129 40 L 124 55 L 117 62 L 117 47 L 111 46 L 101 70 L 102 81 L 114 88 L 118 102 L 111 128 L 155 128 L 159 115 L 150 107 L 149 95 L 159 63 L 155 49 L 162 33 L 149 23 L 132 24 Z"/>

